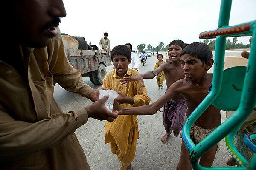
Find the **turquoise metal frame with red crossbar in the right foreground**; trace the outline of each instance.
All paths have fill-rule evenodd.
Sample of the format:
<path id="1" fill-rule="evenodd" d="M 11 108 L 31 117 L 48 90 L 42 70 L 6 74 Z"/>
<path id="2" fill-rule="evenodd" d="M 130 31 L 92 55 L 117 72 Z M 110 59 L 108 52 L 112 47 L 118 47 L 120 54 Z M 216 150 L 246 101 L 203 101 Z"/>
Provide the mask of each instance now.
<path id="1" fill-rule="evenodd" d="M 232 0 L 221 0 L 218 28 L 216 30 L 202 32 L 199 36 L 201 39 L 216 38 L 216 43 L 212 89 L 198 107 L 190 114 L 182 129 L 182 138 L 189 150 L 190 163 L 195 170 L 229 170 L 234 168 L 236 170 L 256 170 L 256 154 L 254 154 L 252 160 L 248 162 L 236 150 L 233 142 L 235 133 L 256 105 L 256 20 L 236 26 L 229 26 L 231 4 Z M 229 119 L 219 125 L 205 139 L 195 145 L 189 136 L 190 128 L 199 116 L 201 116 L 209 107 L 209 105 L 212 104 L 221 90 L 226 37 L 249 35 L 253 35 L 254 38 L 252 40 L 250 57 L 244 78 L 239 107 Z M 232 155 L 235 155 L 236 158 L 239 158 L 239 161 L 241 161 L 241 167 L 203 167 L 199 165 L 199 158 L 225 136 L 227 136 L 227 147 L 232 149 L 230 149 L 229 152 L 232 153 Z"/>

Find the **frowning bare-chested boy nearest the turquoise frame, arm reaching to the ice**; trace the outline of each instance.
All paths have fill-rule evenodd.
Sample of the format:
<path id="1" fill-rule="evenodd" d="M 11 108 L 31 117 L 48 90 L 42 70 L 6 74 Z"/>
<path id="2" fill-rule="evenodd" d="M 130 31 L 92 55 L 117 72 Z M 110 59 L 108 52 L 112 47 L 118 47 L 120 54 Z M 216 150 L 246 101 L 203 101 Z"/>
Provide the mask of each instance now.
<path id="1" fill-rule="evenodd" d="M 212 82 L 212 74 L 207 74 L 207 71 L 213 65 L 212 51 L 208 45 L 200 42 L 194 42 L 184 48 L 180 60 L 185 75 L 184 79 L 174 82 L 166 91 L 166 94 L 150 105 L 126 108 L 116 104 L 115 107 L 121 111 L 119 114 L 155 114 L 158 109 L 163 106 L 163 103 L 173 99 L 176 94 L 183 94 L 188 106 L 186 111 L 186 117 L 188 117 L 208 94 L 209 87 Z M 220 110 L 215 108 L 213 105 L 210 105 L 209 108 L 207 108 L 207 110 L 204 111 L 204 113 L 196 120 L 194 125 L 192 125 L 190 137 L 193 142 L 197 144 L 220 124 Z M 217 145 L 212 147 L 206 154 L 204 154 L 204 156 L 201 157 L 199 164 L 204 167 L 211 167 L 217 149 Z M 181 145 L 180 162 L 177 169 L 191 170 L 189 152 L 183 141 Z"/>

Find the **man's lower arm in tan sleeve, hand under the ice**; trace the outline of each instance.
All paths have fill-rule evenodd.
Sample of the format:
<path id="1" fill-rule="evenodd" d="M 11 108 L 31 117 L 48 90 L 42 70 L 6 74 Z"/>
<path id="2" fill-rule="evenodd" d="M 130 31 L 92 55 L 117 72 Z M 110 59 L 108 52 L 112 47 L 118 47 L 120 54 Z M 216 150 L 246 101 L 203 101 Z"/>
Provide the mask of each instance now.
<path id="1" fill-rule="evenodd" d="M 57 147 L 65 136 L 84 125 L 89 117 L 113 122 L 118 112 L 105 108 L 108 96 L 69 113 L 56 113 L 38 122 L 15 120 L 0 110 L 0 162 L 25 158 L 38 150 Z"/>

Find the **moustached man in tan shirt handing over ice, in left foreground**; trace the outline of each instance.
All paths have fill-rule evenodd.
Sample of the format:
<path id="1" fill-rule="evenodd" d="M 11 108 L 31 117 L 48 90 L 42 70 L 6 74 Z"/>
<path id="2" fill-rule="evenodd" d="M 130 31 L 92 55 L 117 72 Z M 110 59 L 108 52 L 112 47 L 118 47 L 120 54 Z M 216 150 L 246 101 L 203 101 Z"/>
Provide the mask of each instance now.
<path id="1" fill-rule="evenodd" d="M 97 101 L 99 90 L 67 60 L 58 29 L 64 4 L 8 3 L 4 23 L 11 34 L 3 35 L 7 49 L 0 55 L 0 169 L 90 170 L 74 132 L 90 117 L 113 122 L 117 112 L 105 108 L 108 96 Z M 93 103 L 64 113 L 53 98 L 55 83 Z"/>

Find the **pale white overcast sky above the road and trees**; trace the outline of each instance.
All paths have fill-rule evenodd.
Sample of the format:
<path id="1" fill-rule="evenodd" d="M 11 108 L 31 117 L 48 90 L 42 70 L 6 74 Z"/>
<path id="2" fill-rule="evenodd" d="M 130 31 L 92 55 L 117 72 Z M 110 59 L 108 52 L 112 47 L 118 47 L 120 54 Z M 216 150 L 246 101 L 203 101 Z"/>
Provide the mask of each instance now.
<path id="1" fill-rule="evenodd" d="M 154 47 L 163 41 L 200 41 L 200 32 L 217 28 L 221 0 L 63 0 L 67 16 L 62 18 L 62 33 L 85 37 L 99 47 L 108 32 L 111 49 L 131 43 Z M 256 19 L 256 0 L 233 0 L 230 23 L 236 25 Z M 237 43 L 249 43 L 238 37 Z M 202 41 L 202 40 L 201 40 Z"/>

